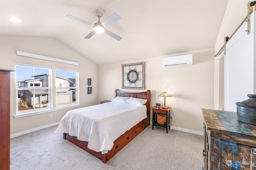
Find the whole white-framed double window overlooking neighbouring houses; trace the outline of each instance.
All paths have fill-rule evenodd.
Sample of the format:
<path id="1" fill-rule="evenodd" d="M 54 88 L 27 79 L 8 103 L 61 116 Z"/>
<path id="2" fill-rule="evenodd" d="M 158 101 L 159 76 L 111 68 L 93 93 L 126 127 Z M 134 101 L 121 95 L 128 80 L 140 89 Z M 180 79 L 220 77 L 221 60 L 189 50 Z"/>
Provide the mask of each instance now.
<path id="1" fill-rule="evenodd" d="M 24 117 L 80 106 L 78 104 L 78 71 L 32 64 L 16 63 L 16 115 Z M 52 85 L 52 84 L 55 84 Z M 52 100 L 52 88 L 56 96 Z"/>

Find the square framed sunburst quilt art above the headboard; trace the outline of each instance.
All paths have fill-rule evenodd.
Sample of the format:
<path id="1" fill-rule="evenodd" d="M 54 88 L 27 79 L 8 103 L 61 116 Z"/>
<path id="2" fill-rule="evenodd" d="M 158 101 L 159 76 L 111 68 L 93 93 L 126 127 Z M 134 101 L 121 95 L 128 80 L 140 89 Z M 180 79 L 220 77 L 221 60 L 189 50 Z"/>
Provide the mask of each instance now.
<path id="1" fill-rule="evenodd" d="M 144 62 L 122 64 L 122 88 L 145 89 Z"/>

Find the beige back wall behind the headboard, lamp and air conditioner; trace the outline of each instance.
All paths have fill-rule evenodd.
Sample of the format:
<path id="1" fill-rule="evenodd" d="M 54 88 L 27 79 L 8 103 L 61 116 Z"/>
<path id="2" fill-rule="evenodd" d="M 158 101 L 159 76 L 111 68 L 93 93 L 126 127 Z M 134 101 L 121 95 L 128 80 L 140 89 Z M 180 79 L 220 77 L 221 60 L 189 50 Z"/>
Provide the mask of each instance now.
<path id="1" fill-rule="evenodd" d="M 99 101 L 112 100 L 115 88 L 132 92 L 151 90 L 151 106 L 153 107 L 156 102 L 164 103 L 164 98 L 158 97 L 158 95 L 166 91 L 173 96 L 166 98 L 166 105 L 172 107 L 174 115 L 172 125 L 202 132 L 201 109 L 213 109 L 214 107 L 214 49 L 172 56 L 190 53 L 193 54 L 193 65 L 191 66 L 166 68 L 162 64 L 163 57 L 98 66 Z M 122 89 L 122 64 L 143 61 L 145 62 L 145 90 Z"/>

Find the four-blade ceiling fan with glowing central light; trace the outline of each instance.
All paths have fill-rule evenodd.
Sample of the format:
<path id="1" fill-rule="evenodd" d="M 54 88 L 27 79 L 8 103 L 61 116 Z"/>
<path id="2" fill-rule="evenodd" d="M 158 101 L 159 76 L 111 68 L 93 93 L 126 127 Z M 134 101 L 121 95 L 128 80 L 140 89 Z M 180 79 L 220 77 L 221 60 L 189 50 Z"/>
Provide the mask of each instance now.
<path id="1" fill-rule="evenodd" d="M 120 16 L 118 16 L 118 14 L 116 14 L 115 12 L 110 16 L 108 17 L 105 21 L 103 21 L 102 23 L 100 22 L 100 17 L 102 17 L 103 13 L 101 11 L 97 11 L 96 13 L 96 16 L 98 17 L 98 22 L 92 24 L 90 22 L 87 22 L 87 21 L 84 21 L 84 20 L 81 20 L 79 18 L 76 18 L 74 16 L 71 16 L 71 15 L 66 15 L 66 17 L 68 18 L 71 18 L 73 20 L 76 20 L 76 21 L 79 21 L 79 22 L 82 22 L 82 23 L 86 23 L 87 25 L 91 25 L 93 26 L 94 30 L 92 32 L 90 32 L 88 35 L 86 35 L 86 37 L 84 38 L 90 38 L 92 37 L 92 35 L 94 35 L 95 33 L 103 33 L 105 32 L 106 34 L 110 35 L 111 37 L 113 37 L 114 39 L 120 41 L 122 39 L 122 37 L 112 33 L 111 31 L 108 31 L 107 29 L 105 29 L 105 27 L 107 25 L 110 25 L 111 23 L 117 21 L 117 20 L 120 20 Z"/>

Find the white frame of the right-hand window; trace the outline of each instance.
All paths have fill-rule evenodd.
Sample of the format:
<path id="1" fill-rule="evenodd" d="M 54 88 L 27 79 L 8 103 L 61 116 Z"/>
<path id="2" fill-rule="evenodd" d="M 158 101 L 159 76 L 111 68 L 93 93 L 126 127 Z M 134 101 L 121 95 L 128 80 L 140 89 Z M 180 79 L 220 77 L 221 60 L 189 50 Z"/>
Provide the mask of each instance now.
<path id="1" fill-rule="evenodd" d="M 66 72 L 75 72 L 76 73 L 76 83 L 75 84 L 78 84 L 78 77 L 79 77 L 79 72 L 78 70 L 70 70 L 70 69 L 65 69 L 65 68 L 56 68 L 55 69 L 55 75 L 56 75 L 56 71 L 66 71 Z M 56 83 L 55 83 L 56 84 Z M 63 87 L 63 84 L 66 84 L 66 87 Z M 56 86 L 56 85 L 55 85 Z M 67 107 L 67 106 L 73 106 L 73 105 L 77 105 L 78 104 L 78 99 L 79 99 L 79 96 L 78 96 L 78 86 L 74 86 L 74 87 L 67 87 L 67 83 L 62 83 L 62 87 L 59 87 L 59 86 L 56 86 L 56 94 L 55 94 L 55 97 L 56 97 L 56 100 L 57 100 L 57 89 L 76 89 L 76 102 L 74 104 L 66 104 L 66 105 L 60 105 L 60 106 L 57 106 L 57 101 L 55 101 L 56 103 L 56 108 L 62 108 L 62 107 Z"/>

